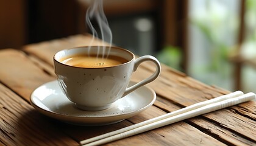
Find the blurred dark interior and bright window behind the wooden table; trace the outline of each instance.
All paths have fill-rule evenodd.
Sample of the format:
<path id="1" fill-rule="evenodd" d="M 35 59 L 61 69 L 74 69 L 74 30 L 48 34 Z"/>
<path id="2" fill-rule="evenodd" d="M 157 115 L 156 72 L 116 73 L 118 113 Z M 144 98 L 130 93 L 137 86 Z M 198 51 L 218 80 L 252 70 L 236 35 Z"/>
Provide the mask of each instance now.
<path id="1" fill-rule="evenodd" d="M 90 0 L 0 0 L 0 49 L 87 33 Z M 104 0 L 116 46 L 208 85 L 256 92 L 256 1 Z"/>

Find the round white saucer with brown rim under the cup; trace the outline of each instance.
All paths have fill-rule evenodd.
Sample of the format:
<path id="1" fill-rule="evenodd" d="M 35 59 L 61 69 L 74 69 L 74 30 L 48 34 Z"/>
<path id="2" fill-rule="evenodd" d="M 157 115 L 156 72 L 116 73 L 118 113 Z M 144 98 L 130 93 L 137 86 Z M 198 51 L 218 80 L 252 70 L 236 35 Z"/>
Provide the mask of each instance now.
<path id="1" fill-rule="evenodd" d="M 129 84 L 133 85 L 134 82 Z M 41 85 L 30 96 L 30 103 L 40 113 L 75 125 L 108 125 L 149 108 L 155 102 L 155 92 L 142 86 L 102 111 L 83 111 L 70 102 L 59 88 L 57 80 Z"/>

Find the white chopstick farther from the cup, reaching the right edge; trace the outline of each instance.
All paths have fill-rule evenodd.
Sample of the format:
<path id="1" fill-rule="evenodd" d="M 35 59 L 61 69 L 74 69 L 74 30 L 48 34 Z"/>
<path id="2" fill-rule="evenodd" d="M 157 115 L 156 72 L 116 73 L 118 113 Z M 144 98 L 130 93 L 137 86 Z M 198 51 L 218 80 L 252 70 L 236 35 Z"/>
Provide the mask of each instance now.
<path id="1" fill-rule="evenodd" d="M 199 116 L 201 114 L 210 113 L 218 109 L 227 108 L 228 106 L 233 106 L 239 103 L 247 102 L 249 100 L 254 100 L 255 98 L 256 98 L 256 95 L 253 92 L 249 92 L 247 94 L 244 94 L 243 96 L 222 100 L 221 102 L 212 103 L 210 105 L 205 105 L 205 106 L 202 106 L 201 108 L 196 108 L 186 113 L 182 113 L 176 116 L 168 117 L 166 119 L 158 120 L 157 122 L 149 123 L 148 125 L 144 125 L 142 127 L 138 127 L 138 128 L 126 131 L 124 133 L 116 134 L 114 136 L 106 137 L 104 139 L 100 139 L 99 141 L 94 141 L 86 145 L 106 144 L 108 142 L 116 141 L 118 139 L 123 139 L 124 137 L 133 136 L 135 134 L 139 134 L 145 131 L 153 130 L 155 128 L 163 127 L 171 123 L 175 123 L 181 120 L 189 119 L 191 117 Z"/>

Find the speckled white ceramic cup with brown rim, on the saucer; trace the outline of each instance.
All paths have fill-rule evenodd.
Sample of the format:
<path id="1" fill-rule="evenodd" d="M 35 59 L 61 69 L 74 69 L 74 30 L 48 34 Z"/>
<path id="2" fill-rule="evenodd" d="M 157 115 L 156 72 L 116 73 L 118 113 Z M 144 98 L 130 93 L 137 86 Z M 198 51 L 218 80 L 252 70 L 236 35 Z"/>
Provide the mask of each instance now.
<path id="1" fill-rule="evenodd" d="M 105 47 L 105 49 L 105 52 L 108 52 L 110 48 Z M 110 55 L 122 57 L 128 61 L 112 67 L 80 68 L 63 64 L 60 61 L 71 55 L 88 54 L 88 52 L 97 54 L 98 46 L 60 50 L 54 55 L 54 69 L 60 88 L 66 97 L 80 109 L 87 111 L 106 109 L 116 100 L 152 82 L 160 74 L 161 66 L 157 58 L 145 55 L 136 59 L 132 52 L 119 47 L 111 47 Z M 154 74 L 127 88 L 132 72 L 136 71 L 143 61 L 152 61 L 155 64 Z"/>

